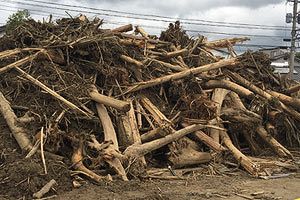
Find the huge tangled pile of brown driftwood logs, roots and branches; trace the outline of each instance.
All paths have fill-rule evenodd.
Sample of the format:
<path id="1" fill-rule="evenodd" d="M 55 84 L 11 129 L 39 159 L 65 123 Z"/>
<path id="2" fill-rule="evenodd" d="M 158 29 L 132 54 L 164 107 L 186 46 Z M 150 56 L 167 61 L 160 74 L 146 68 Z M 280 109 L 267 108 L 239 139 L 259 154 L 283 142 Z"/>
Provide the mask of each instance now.
<path id="1" fill-rule="evenodd" d="M 248 38 L 190 38 L 179 22 L 159 38 L 101 25 L 29 20 L 0 39 L 1 114 L 26 158 L 42 155 L 45 173 L 45 153 L 96 182 L 229 153 L 254 176 L 265 173 L 255 155 L 293 159 L 299 85 L 289 88 L 262 53 L 238 56 L 233 46 Z"/>

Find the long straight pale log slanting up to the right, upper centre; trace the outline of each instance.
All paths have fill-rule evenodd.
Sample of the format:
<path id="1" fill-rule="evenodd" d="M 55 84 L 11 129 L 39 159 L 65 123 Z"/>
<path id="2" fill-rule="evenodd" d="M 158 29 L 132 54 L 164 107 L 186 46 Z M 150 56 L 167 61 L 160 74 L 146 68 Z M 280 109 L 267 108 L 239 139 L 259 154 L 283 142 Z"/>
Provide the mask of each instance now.
<path id="1" fill-rule="evenodd" d="M 153 86 L 156 86 L 156 85 L 160 85 L 160 84 L 169 82 L 171 80 L 182 79 L 182 78 L 185 78 L 187 76 L 196 75 L 196 74 L 199 74 L 201 72 L 205 72 L 205 71 L 209 71 L 209 70 L 219 69 L 219 68 L 222 68 L 222 67 L 234 66 L 237 63 L 238 63 L 237 58 L 232 58 L 232 59 L 228 59 L 228 60 L 221 60 L 221 61 L 216 62 L 216 63 L 207 64 L 207 65 L 192 68 L 192 69 L 187 69 L 187 70 L 184 70 L 182 72 L 178 72 L 178 73 L 175 73 L 175 74 L 171 74 L 171 75 L 167 75 L 167 76 L 164 76 L 164 77 L 156 78 L 156 79 L 153 79 L 153 80 L 150 80 L 150 81 L 137 83 L 136 85 L 131 86 L 125 93 L 135 92 L 135 91 L 138 91 L 138 90 L 146 89 L 146 88 L 149 88 L 149 87 L 153 87 Z"/>

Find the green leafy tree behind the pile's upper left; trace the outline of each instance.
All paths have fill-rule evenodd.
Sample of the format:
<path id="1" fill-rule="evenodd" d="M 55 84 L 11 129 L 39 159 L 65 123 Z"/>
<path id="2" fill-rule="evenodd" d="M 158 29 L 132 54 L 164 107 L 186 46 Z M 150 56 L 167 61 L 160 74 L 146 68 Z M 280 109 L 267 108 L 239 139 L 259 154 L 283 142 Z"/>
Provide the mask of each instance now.
<path id="1" fill-rule="evenodd" d="M 13 32 L 18 26 L 28 19 L 30 19 L 30 13 L 28 10 L 19 10 L 10 15 L 6 23 L 6 34 Z"/>

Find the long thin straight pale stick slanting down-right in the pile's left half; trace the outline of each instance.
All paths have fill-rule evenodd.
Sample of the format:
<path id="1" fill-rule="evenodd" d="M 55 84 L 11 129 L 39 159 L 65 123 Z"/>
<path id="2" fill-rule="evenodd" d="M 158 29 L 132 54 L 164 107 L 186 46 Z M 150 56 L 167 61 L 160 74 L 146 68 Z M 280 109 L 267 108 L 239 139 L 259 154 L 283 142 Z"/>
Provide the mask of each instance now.
<path id="1" fill-rule="evenodd" d="M 46 85 L 44 85 L 42 82 L 40 82 L 39 80 L 33 78 L 31 75 L 27 74 L 25 71 L 23 71 L 22 69 L 20 69 L 19 67 L 14 67 L 18 72 L 21 73 L 22 76 L 24 76 L 25 78 L 27 78 L 29 81 L 31 81 L 31 83 L 33 83 L 34 85 L 42 88 L 43 90 L 45 90 L 46 92 L 48 92 L 50 95 L 52 95 L 54 98 L 58 99 L 59 101 L 61 101 L 62 103 L 64 103 L 66 106 L 68 106 L 70 109 L 74 109 L 77 110 L 79 113 L 87 116 L 87 117 L 91 117 L 90 114 L 84 112 L 83 110 L 81 110 L 80 108 L 78 108 L 75 104 L 71 103 L 70 101 L 66 100 L 65 98 L 63 98 L 62 96 L 60 96 L 57 92 L 51 90 L 50 88 L 48 88 Z"/>

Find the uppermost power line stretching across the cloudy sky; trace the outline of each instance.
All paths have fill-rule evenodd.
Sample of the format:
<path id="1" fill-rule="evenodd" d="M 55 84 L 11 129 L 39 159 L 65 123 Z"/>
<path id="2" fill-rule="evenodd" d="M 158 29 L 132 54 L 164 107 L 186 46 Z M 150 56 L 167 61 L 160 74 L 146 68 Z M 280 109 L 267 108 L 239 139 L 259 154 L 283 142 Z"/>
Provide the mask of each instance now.
<path id="1" fill-rule="evenodd" d="M 250 24 L 250 23 L 237 23 L 237 22 L 220 22 L 220 21 L 210 21 L 210 20 L 202 20 L 202 19 L 176 18 L 176 17 L 169 17 L 169 16 L 162 16 L 162 15 L 141 14 L 141 13 L 124 12 L 124 11 L 111 10 L 111 9 L 92 8 L 92 7 L 87 7 L 87 6 L 76 6 L 76 5 L 70 5 L 70 4 L 55 3 L 55 2 L 44 2 L 44 1 L 39 1 L 39 0 L 23 0 L 23 1 L 31 1 L 31 2 L 37 2 L 37 3 L 43 3 L 43 4 L 52 4 L 52 5 L 59 5 L 59 6 L 80 8 L 80 9 L 88 9 L 88 10 L 95 10 L 95 11 L 105 11 L 105 12 L 129 14 L 129 15 L 134 15 L 134 16 L 165 18 L 165 19 L 171 19 L 171 20 L 208 22 L 208 23 L 215 23 L 215 24 L 221 24 L 221 25 L 223 25 L 223 24 L 230 24 L 230 25 L 241 25 L 241 26 L 257 26 L 257 27 L 270 27 L 270 28 L 287 28 L 286 26 L 265 25 L 265 24 Z"/>

